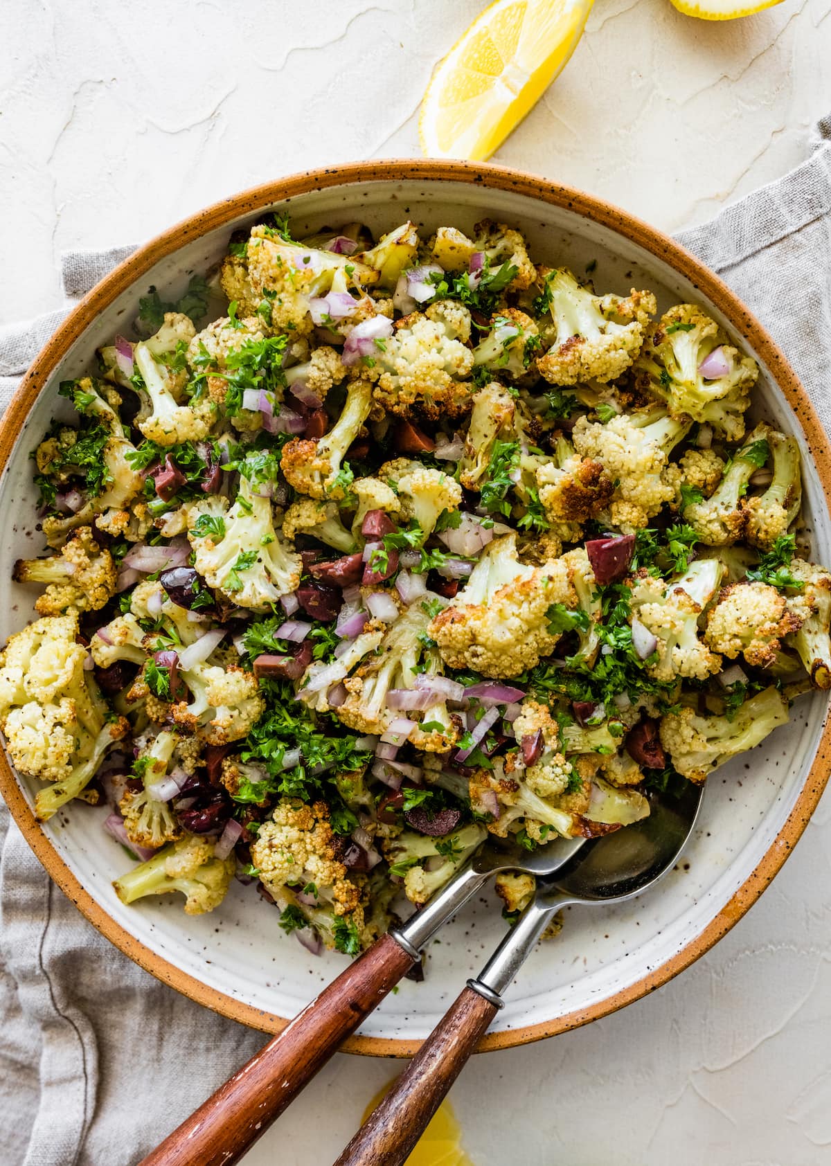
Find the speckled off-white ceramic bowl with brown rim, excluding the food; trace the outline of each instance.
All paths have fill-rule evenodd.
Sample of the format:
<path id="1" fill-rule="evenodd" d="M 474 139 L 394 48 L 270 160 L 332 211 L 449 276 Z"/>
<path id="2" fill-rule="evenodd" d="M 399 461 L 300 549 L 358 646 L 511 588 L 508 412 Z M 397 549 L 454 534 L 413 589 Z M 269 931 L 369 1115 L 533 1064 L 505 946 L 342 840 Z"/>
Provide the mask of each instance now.
<path id="1" fill-rule="evenodd" d="M 798 387 L 791 381 L 795 410 L 776 384 L 770 367 L 775 361 L 768 358 L 766 364 L 760 351 L 767 352 L 769 342 L 747 314 L 731 303 L 723 288 L 711 298 L 702 286 L 706 280 L 702 280 L 700 269 L 685 261 L 668 240 L 662 241 L 640 225 L 633 230 L 632 220 L 622 215 L 615 217 L 617 212 L 608 208 L 597 212 L 589 199 L 571 199 L 565 192 L 544 201 L 540 191 L 556 188 L 537 180 L 495 183 L 487 170 L 484 181 L 472 181 L 471 173 L 463 174 L 462 168 L 456 176 L 448 167 L 436 175 L 429 164 L 422 164 L 421 170 L 418 174 L 415 166 L 408 169 L 402 164 L 357 168 L 322 189 L 314 189 L 319 184 L 309 178 L 305 192 L 297 192 L 297 184 L 290 188 L 293 197 L 281 209 L 288 210 L 296 234 L 354 219 L 367 223 L 378 234 L 410 218 L 427 236 L 441 224 L 469 230 L 478 219 L 491 217 L 519 227 L 537 261 L 565 264 L 576 272 L 596 262 L 594 279 L 604 290 L 625 293 L 632 286 L 649 287 L 657 293 L 662 309 L 678 301 L 703 303 L 761 365 L 754 414 L 795 433 L 802 444 L 804 514 L 814 555 L 831 561 L 831 526 L 821 480 L 824 471 L 816 468 L 826 456 L 821 445 L 824 438 L 818 427 L 811 429 L 807 423 L 814 452 L 809 450 L 805 429 L 797 420 L 804 403 Z M 324 183 L 332 181 L 330 176 Z M 139 296 L 149 285 L 170 293 L 166 298 L 175 298 L 190 273 L 214 265 L 231 231 L 274 205 L 281 189 L 286 188 L 274 187 L 232 201 L 219 216 L 225 218 L 221 225 L 216 225 L 216 213 L 213 219 L 209 216 L 190 220 L 181 237 L 169 237 L 162 248 L 168 250 L 167 254 L 136 273 L 129 286 L 122 280 L 122 290 L 114 297 L 110 293 L 104 296 L 111 302 L 99 304 L 94 318 L 69 346 L 64 345 L 57 360 L 51 356 L 45 365 L 40 363 L 36 378 L 43 387 L 19 431 L 7 433 L 7 444 L 10 447 L 12 437 L 14 444 L 0 480 L 2 511 L 8 515 L 0 542 L 6 564 L 41 549 L 34 528 L 29 455 L 57 410 L 58 381 L 87 370 L 96 346 L 113 333 L 129 332 Z M 713 287 L 717 281 L 709 285 L 710 290 Z M 782 367 L 775 371 L 780 382 L 793 377 Z M 20 410 L 13 413 L 15 428 L 20 417 Z M 2 574 L 3 639 L 23 626 L 31 614 L 33 599 L 31 590 L 10 582 L 8 570 Z M 759 892 L 759 869 L 775 871 L 782 848 L 798 836 L 804 824 L 801 819 L 814 800 L 807 791 L 818 796 L 823 775 L 819 766 L 812 774 L 810 771 L 821 750 L 825 709 L 822 694 L 802 700 L 789 725 L 710 779 L 700 826 L 683 862 L 659 888 L 618 908 L 568 912 L 561 935 L 538 947 L 509 991 L 486 1047 L 517 1044 L 603 1014 L 665 979 L 726 930 Z M 15 816 L 50 872 L 82 909 L 129 955 L 203 1003 L 248 1024 L 275 1030 L 281 1018 L 297 1012 L 344 967 L 343 956 L 314 958 L 284 935 L 276 911 L 252 887 L 234 884 L 221 907 L 202 918 L 184 915 L 178 897 L 122 906 L 111 880 L 129 861 L 101 829 L 106 812 L 70 805 L 41 834 L 27 809 L 33 784 L 21 781 L 23 805 L 12 781 L 6 770 L 0 784 L 6 785 Z M 479 970 L 505 926 L 491 897 L 476 901 L 431 944 L 424 983 L 403 982 L 400 991 L 367 1019 L 350 1047 L 379 1054 L 411 1051 L 465 979 Z"/>

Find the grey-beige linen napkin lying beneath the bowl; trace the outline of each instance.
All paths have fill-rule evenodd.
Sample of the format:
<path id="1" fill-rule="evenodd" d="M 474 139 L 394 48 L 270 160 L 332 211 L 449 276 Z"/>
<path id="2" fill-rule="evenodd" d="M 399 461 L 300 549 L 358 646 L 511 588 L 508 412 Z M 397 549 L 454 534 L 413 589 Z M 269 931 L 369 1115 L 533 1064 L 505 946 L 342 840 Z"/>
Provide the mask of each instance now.
<path id="1" fill-rule="evenodd" d="M 831 114 L 802 166 L 677 238 L 755 311 L 831 429 Z M 69 305 L 133 250 L 64 254 Z M 0 328 L 0 412 L 66 310 Z M 5 806 L 0 852 L 2 1161 L 133 1166 L 262 1033 L 185 999 L 104 940 Z"/>

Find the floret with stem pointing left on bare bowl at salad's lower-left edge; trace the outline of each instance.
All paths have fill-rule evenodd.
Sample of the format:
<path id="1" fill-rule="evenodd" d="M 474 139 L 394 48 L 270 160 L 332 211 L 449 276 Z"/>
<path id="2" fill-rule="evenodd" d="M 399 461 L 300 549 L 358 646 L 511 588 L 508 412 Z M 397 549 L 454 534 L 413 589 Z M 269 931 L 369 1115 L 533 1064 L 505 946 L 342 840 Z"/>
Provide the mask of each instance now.
<path id="1" fill-rule="evenodd" d="M 129 904 L 148 894 L 179 891 L 185 897 L 185 915 L 213 911 L 225 898 L 237 866 L 233 855 L 217 858 L 213 845 L 212 838 L 189 834 L 115 879 L 115 893 Z"/>

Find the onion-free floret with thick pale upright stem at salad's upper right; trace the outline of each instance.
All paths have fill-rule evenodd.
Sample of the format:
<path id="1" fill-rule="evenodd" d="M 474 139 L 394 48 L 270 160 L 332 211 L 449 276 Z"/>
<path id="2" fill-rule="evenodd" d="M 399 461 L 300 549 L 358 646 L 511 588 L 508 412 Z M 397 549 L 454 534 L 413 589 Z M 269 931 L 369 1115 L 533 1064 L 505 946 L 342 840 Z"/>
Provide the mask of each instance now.
<path id="1" fill-rule="evenodd" d="M 643 344 L 655 296 L 634 288 L 626 300 L 598 296 L 565 268 L 544 280 L 554 326 L 540 321 L 547 350 L 537 359 L 541 375 L 552 385 L 577 385 L 591 378 L 604 384 L 626 372 Z"/>

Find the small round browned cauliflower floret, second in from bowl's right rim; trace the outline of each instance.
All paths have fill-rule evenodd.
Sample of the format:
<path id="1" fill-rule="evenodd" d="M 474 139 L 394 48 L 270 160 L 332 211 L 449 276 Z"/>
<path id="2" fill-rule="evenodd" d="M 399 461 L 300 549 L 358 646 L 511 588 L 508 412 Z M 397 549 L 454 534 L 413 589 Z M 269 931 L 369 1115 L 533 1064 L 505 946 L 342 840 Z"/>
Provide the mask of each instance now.
<path id="1" fill-rule="evenodd" d="M 728 660 L 741 653 L 749 665 L 768 668 L 776 662 L 783 637 L 802 627 L 803 617 L 767 583 L 731 583 L 707 616 L 705 640 Z"/>

